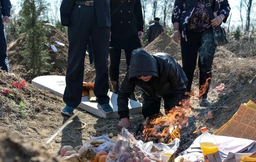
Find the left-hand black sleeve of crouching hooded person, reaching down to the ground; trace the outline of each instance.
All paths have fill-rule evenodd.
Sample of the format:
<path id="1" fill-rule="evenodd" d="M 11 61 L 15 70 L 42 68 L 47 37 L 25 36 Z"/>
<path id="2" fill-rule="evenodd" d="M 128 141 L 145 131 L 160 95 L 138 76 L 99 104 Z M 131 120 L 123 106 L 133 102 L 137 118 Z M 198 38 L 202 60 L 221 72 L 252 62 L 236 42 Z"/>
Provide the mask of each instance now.
<path id="1" fill-rule="evenodd" d="M 132 91 L 135 88 L 135 84 L 129 82 L 128 80 L 128 73 L 129 71 L 125 75 L 124 81 L 122 82 L 117 96 L 117 107 L 120 119 L 129 118 L 128 98 L 131 96 Z"/>

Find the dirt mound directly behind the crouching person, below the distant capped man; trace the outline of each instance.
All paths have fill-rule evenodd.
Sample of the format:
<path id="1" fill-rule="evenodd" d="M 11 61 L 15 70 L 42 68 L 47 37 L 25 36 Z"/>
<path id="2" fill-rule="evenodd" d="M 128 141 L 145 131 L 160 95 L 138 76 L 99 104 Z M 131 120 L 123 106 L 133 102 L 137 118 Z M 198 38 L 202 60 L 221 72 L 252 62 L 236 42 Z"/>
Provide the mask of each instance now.
<path id="1" fill-rule="evenodd" d="M 148 51 L 149 53 L 165 52 L 172 55 L 176 60 L 181 59 L 180 45 L 175 43 L 169 35 L 164 33 L 159 35 L 155 40 L 153 40 L 143 49 Z"/>

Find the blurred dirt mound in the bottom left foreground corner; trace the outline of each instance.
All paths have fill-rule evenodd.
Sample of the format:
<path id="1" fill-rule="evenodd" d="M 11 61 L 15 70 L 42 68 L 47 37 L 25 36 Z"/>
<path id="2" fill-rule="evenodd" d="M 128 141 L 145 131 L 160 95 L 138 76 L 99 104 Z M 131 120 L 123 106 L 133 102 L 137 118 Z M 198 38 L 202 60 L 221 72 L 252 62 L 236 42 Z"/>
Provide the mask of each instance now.
<path id="1" fill-rule="evenodd" d="M 64 162 L 19 133 L 0 135 L 0 162 Z"/>

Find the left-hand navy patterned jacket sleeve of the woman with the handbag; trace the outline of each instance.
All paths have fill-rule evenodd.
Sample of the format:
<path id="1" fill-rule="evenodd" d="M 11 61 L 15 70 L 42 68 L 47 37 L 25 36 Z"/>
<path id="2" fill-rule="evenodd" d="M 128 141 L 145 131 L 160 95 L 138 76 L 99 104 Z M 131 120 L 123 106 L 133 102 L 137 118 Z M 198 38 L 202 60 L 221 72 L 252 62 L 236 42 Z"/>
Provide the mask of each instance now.
<path id="1" fill-rule="evenodd" d="M 184 0 L 175 0 L 173 13 L 172 13 L 172 23 L 178 22 L 180 23 L 182 11 L 184 9 Z"/>

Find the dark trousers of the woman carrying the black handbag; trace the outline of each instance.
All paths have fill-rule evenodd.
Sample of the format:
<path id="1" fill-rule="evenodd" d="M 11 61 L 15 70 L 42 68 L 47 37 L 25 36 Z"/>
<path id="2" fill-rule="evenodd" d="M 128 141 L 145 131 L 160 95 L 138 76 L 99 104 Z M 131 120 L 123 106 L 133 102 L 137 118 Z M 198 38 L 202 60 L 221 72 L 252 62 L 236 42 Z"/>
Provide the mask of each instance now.
<path id="1" fill-rule="evenodd" d="M 182 68 L 188 78 L 187 90 L 191 91 L 193 75 L 196 68 L 197 54 L 199 67 L 199 88 L 206 83 L 206 79 L 212 77 L 212 62 L 216 50 L 212 28 L 204 32 L 187 31 L 188 41 L 181 41 Z M 207 98 L 211 79 L 203 98 Z"/>

